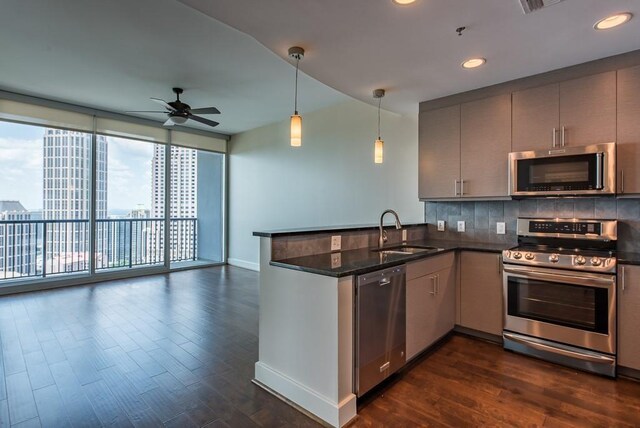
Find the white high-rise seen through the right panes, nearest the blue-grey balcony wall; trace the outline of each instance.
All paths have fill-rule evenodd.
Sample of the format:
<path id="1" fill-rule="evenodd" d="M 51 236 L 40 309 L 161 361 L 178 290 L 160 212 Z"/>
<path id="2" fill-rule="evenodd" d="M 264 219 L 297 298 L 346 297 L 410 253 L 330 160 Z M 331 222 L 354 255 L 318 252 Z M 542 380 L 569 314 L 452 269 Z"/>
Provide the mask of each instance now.
<path id="1" fill-rule="evenodd" d="M 169 248 L 172 261 L 195 257 L 198 201 L 198 151 L 184 147 L 171 147 L 171 189 L 169 194 L 170 230 Z M 153 218 L 163 218 L 165 212 L 164 172 L 165 148 L 156 145 L 152 162 Z M 157 234 L 152 240 L 160 240 Z"/>

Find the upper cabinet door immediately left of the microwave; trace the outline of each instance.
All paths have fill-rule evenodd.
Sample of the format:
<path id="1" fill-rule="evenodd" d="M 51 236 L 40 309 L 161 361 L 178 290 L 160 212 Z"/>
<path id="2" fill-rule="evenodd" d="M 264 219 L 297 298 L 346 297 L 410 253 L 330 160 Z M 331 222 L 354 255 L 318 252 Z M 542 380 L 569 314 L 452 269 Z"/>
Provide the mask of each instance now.
<path id="1" fill-rule="evenodd" d="M 507 196 L 511 95 L 462 104 L 460 127 L 460 195 Z"/>

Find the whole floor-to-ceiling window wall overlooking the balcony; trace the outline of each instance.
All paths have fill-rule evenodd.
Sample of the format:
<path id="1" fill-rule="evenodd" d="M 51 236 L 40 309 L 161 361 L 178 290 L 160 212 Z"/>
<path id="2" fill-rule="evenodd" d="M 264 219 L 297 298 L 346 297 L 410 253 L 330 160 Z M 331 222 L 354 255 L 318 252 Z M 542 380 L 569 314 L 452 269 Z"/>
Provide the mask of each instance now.
<path id="1" fill-rule="evenodd" d="M 224 262 L 225 150 L 0 98 L 0 287 Z"/>

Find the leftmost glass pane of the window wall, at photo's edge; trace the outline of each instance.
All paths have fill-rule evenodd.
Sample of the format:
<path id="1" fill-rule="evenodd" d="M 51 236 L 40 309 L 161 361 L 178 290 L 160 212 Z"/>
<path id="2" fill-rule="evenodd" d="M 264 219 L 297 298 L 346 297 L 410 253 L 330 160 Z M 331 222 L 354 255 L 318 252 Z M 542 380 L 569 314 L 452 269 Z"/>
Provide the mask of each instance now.
<path id="1" fill-rule="evenodd" d="M 0 122 L 0 279 L 89 268 L 91 134 Z"/>

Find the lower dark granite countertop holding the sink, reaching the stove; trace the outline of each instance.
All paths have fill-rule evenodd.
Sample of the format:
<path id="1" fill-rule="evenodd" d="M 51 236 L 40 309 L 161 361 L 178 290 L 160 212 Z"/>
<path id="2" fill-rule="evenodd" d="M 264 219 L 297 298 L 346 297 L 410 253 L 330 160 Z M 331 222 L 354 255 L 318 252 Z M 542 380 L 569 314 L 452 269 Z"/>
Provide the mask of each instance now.
<path id="1" fill-rule="evenodd" d="M 407 262 L 433 257 L 449 251 L 469 250 L 499 253 L 511 248 L 513 243 L 481 243 L 457 242 L 427 239 L 411 241 L 408 245 L 437 247 L 438 250 L 417 254 L 381 254 L 373 251 L 375 248 L 360 248 L 357 250 L 339 251 L 334 253 L 315 254 L 304 257 L 294 257 L 285 260 L 271 261 L 272 266 L 295 269 L 318 275 L 343 277 L 360 275 L 379 269 L 401 265 Z"/>

